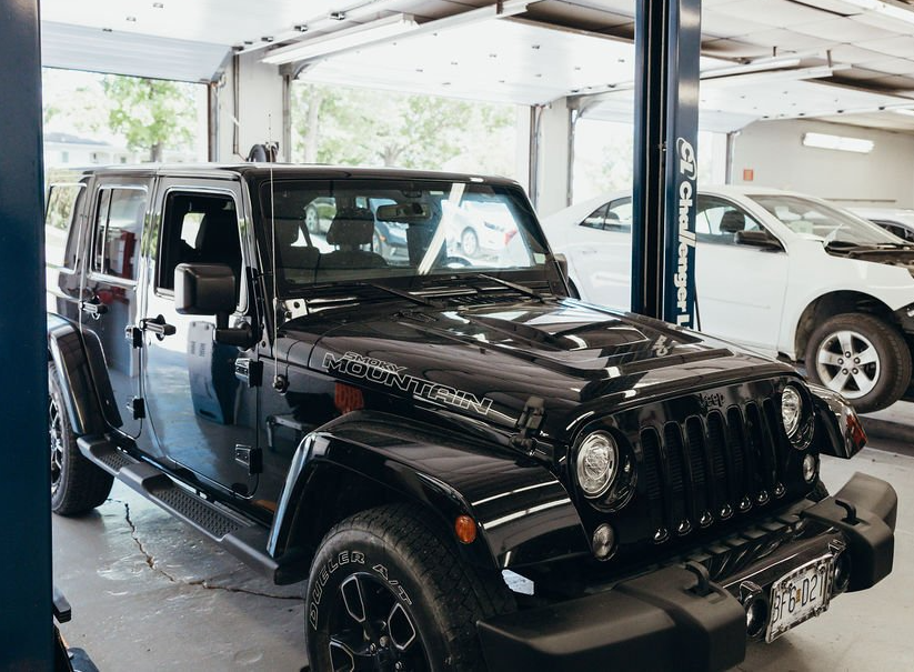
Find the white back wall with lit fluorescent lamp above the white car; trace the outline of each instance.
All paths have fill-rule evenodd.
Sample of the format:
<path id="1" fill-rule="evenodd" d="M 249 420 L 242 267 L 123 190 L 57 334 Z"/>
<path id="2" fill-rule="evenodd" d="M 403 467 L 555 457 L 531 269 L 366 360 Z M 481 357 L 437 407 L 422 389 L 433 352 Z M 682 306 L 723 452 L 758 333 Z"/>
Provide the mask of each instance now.
<path id="1" fill-rule="evenodd" d="M 803 147 L 803 133 L 874 142 L 868 154 Z M 813 120 L 757 121 L 735 138 L 732 182 L 811 193 L 845 205 L 914 207 L 914 136 Z M 754 179 L 743 179 L 752 170 Z"/>

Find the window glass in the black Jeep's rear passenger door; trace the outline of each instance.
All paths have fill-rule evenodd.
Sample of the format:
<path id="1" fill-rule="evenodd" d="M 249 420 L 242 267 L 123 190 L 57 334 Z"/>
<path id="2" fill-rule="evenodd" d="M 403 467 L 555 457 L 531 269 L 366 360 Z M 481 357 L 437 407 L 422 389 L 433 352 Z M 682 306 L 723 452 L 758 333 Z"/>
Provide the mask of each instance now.
<path id="1" fill-rule="evenodd" d="M 144 189 L 99 191 L 92 235 L 93 271 L 124 280 L 137 279 L 145 200 Z"/>

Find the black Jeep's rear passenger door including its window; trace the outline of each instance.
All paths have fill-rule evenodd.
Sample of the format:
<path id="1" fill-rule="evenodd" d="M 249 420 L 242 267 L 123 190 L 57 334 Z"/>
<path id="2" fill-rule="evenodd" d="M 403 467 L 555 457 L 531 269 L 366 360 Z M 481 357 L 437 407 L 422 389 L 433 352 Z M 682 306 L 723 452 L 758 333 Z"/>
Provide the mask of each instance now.
<path id="1" fill-rule="evenodd" d="M 140 239 L 149 208 L 151 179 L 99 178 L 92 191 L 89 235 L 83 248 L 79 321 L 83 338 L 98 338 L 123 424 L 138 438 L 142 429 L 140 355 L 124 338 L 137 321 Z"/>

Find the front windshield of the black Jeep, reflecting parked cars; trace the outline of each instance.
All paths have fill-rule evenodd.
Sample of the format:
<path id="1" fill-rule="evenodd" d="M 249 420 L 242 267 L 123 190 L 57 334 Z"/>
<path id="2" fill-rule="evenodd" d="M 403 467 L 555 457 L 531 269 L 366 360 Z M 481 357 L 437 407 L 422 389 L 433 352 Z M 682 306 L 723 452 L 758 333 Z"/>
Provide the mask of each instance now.
<path id="1" fill-rule="evenodd" d="M 509 185 L 279 179 L 259 193 L 281 294 L 333 282 L 545 270 L 535 217 Z"/>

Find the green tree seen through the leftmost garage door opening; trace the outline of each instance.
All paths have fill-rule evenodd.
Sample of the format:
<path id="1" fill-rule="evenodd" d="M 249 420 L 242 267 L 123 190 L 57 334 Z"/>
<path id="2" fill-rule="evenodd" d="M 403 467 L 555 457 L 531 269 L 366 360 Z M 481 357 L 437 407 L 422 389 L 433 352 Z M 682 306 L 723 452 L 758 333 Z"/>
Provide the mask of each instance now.
<path id="1" fill-rule="evenodd" d="M 195 107 L 189 84 L 107 76 L 102 86 L 111 101 L 108 123 L 130 149 L 149 150 L 150 161 L 161 161 L 165 147 L 192 143 Z"/>

